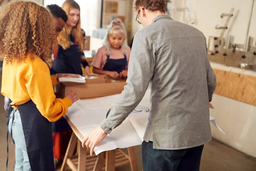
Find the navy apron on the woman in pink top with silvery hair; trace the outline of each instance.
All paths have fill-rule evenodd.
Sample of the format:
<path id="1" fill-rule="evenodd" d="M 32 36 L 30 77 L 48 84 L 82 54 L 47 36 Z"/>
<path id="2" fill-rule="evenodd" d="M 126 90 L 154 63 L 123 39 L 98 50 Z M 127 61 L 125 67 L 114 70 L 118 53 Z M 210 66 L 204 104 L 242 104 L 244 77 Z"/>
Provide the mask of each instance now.
<path id="1" fill-rule="evenodd" d="M 124 56 L 125 58 L 122 59 L 110 59 L 109 55 L 107 55 L 107 61 L 102 70 L 122 72 L 127 66 L 127 58 L 126 55 Z"/>

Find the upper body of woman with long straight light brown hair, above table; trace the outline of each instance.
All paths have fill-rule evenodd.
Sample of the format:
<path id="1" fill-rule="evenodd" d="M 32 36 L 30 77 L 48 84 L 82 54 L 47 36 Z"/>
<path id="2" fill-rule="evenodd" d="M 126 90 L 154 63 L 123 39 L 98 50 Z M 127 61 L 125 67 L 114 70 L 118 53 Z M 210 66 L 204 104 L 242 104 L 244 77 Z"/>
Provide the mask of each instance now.
<path id="1" fill-rule="evenodd" d="M 84 57 L 85 33 L 81 29 L 80 6 L 74 0 L 66 0 L 61 8 L 66 12 L 68 20 L 58 35 L 58 52 L 52 63 L 52 70 L 57 73 L 83 75 L 90 73 L 89 64 Z"/>

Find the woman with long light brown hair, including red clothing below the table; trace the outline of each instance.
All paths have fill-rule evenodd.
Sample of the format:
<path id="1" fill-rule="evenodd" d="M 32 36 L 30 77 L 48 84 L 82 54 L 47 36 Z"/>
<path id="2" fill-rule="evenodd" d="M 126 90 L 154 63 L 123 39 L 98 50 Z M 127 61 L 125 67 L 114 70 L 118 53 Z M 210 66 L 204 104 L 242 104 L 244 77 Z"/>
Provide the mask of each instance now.
<path id="1" fill-rule="evenodd" d="M 66 0 L 61 8 L 66 12 L 68 20 L 58 35 L 58 52 L 52 63 L 52 70 L 56 73 L 83 75 L 90 74 L 89 64 L 83 55 L 85 33 L 81 29 L 80 6 L 74 0 Z M 64 118 L 52 123 L 54 162 L 64 157 L 72 129 Z"/>

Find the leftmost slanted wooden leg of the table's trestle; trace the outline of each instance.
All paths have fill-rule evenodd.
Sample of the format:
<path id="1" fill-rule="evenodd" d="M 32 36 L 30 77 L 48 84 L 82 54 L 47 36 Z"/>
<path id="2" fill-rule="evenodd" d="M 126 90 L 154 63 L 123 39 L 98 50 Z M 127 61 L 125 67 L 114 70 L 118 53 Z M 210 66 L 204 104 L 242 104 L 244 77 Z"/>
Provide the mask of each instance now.
<path id="1" fill-rule="evenodd" d="M 76 148 L 77 140 L 78 139 L 77 139 L 75 133 L 73 132 L 71 137 L 70 137 L 70 142 L 69 142 L 69 144 L 67 146 L 67 151 L 66 151 L 63 163 L 61 165 L 61 171 L 66 171 L 67 170 L 67 168 L 68 168 L 68 166 L 67 166 L 67 159 L 70 159 L 73 156 L 75 148 Z"/>

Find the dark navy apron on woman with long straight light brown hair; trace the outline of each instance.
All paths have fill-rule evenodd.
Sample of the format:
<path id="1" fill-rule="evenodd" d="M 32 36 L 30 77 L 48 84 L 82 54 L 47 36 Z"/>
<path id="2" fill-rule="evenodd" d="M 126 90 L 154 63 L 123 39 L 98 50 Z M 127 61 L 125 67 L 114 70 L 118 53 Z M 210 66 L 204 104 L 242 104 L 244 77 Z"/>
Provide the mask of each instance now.
<path id="1" fill-rule="evenodd" d="M 75 38 L 70 34 L 70 47 L 66 50 L 58 45 L 58 52 L 55 60 L 52 61 L 52 70 L 56 73 L 83 75 L 81 69 L 81 54 L 79 45 L 74 43 Z"/>

